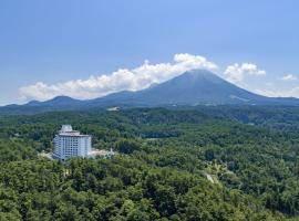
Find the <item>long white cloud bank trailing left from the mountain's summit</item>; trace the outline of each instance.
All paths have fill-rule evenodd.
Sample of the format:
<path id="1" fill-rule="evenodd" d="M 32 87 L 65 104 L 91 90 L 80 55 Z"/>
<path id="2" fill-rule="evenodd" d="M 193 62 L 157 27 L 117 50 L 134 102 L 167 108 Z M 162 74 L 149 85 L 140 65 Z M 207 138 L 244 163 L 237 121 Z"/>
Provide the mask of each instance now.
<path id="1" fill-rule="evenodd" d="M 135 69 L 120 69 L 111 74 L 90 76 L 86 80 L 75 80 L 49 85 L 38 82 L 20 88 L 24 101 L 45 101 L 65 95 L 87 99 L 120 91 L 138 91 L 154 83 L 162 83 L 193 69 L 216 70 L 217 65 L 204 56 L 187 53 L 175 54 L 172 63 L 144 64 Z"/>

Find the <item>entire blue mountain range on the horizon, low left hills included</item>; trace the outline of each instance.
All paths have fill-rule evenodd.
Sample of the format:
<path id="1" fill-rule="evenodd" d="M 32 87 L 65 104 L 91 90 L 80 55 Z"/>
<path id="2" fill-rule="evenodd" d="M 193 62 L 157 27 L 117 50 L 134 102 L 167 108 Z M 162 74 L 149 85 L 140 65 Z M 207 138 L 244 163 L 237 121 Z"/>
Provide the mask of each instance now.
<path id="1" fill-rule="evenodd" d="M 86 109 L 109 106 L 195 106 L 195 105 L 296 105 L 297 98 L 276 98 L 243 90 L 206 70 L 188 71 L 162 84 L 137 92 L 120 92 L 104 97 L 80 101 L 59 96 L 47 102 L 10 105 L 0 113 L 35 113 Z"/>

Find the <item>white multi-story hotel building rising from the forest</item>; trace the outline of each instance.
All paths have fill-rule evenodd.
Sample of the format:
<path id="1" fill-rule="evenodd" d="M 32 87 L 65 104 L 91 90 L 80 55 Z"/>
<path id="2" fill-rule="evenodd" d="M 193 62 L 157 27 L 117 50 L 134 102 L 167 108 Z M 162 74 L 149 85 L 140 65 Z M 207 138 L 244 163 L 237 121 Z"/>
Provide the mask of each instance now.
<path id="1" fill-rule="evenodd" d="M 73 130 L 71 125 L 62 125 L 54 137 L 53 158 L 68 160 L 71 157 L 86 158 L 92 152 L 92 138 Z"/>

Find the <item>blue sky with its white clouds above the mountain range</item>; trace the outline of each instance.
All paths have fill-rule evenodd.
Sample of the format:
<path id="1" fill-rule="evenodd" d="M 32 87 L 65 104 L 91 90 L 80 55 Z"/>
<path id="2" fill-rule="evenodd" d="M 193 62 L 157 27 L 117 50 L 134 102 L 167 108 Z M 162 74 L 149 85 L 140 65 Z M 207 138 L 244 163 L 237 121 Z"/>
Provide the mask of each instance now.
<path id="1" fill-rule="evenodd" d="M 299 97 L 298 8 L 297 0 L 3 0 L 0 105 L 140 90 L 207 62 L 250 91 Z"/>

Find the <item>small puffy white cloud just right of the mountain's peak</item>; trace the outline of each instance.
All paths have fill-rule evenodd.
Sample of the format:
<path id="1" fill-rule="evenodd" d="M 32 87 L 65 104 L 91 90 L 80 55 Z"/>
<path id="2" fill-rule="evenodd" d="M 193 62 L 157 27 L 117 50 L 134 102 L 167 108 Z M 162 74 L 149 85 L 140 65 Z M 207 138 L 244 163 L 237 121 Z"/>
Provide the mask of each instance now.
<path id="1" fill-rule="evenodd" d="M 225 75 L 229 82 L 241 82 L 247 75 L 265 75 L 266 71 L 259 70 L 256 64 L 251 63 L 235 63 L 228 65 L 225 70 Z"/>

